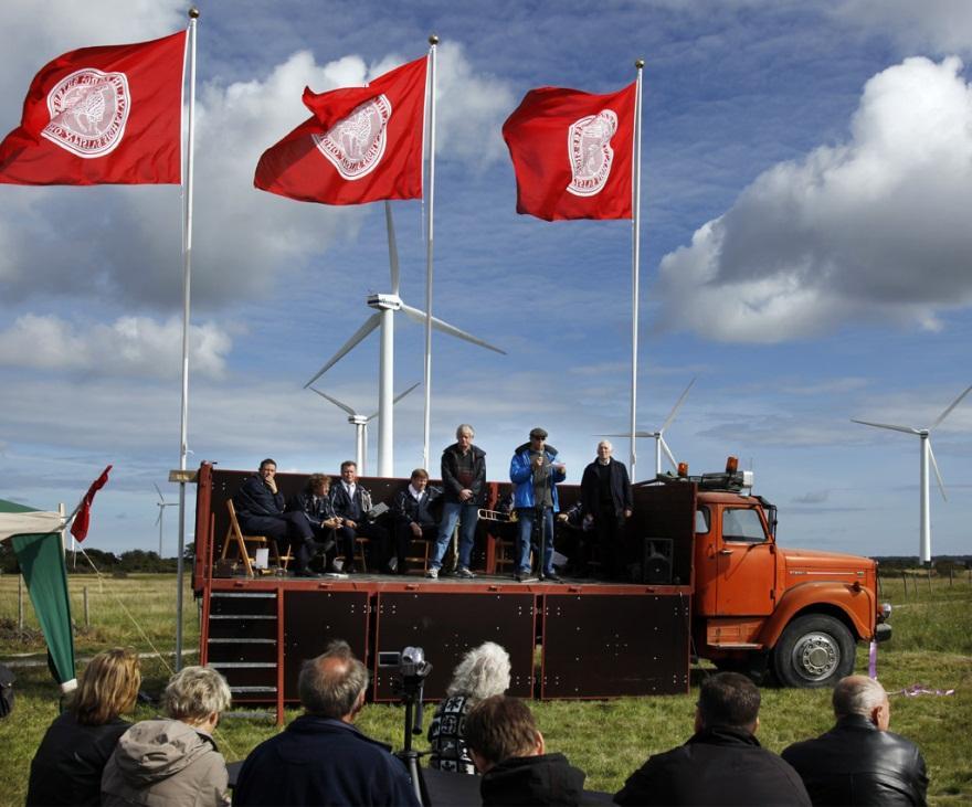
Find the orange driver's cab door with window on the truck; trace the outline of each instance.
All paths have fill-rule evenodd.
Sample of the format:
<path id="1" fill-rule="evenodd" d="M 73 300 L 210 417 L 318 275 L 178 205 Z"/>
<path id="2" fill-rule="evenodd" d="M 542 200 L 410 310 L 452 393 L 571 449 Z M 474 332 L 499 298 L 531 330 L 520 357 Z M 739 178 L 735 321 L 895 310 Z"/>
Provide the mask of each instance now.
<path id="1" fill-rule="evenodd" d="M 775 546 L 754 507 L 721 508 L 721 530 L 712 541 L 720 616 L 773 613 L 776 581 Z"/>

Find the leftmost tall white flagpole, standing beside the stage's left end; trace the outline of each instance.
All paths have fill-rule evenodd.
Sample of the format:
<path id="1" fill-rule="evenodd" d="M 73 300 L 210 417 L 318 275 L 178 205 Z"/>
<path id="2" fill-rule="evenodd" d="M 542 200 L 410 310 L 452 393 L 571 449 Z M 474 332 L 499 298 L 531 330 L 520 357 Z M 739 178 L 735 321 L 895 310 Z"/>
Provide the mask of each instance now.
<path id="1" fill-rule="evenodd" d="M 192 146 L 196 139 L 196 21 L 199 9 L 189 9 L 189 141 L 186 147 L 186 185 L 182 194 L 182 413 L 179 427 L 179 470 L 186 470 L 189 452 L 189 289 L 192 267 Z M 176 559 L 176 671 L 182 669 L 182 588 L 186 573 L 186 474 L 179 479 L 179 556 Z"/>

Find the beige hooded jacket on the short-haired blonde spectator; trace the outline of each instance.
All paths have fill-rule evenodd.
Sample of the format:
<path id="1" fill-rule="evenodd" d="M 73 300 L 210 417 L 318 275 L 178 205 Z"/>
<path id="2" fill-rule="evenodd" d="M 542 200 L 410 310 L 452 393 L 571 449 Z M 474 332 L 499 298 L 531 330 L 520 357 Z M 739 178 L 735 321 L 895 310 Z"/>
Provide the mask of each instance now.
<path id="1" fill-rule="evenodd" d="M 178 720 L 133 725 L 102 775 L 102 804 L 225 807 L 226 761 L 213 739 Z"/>

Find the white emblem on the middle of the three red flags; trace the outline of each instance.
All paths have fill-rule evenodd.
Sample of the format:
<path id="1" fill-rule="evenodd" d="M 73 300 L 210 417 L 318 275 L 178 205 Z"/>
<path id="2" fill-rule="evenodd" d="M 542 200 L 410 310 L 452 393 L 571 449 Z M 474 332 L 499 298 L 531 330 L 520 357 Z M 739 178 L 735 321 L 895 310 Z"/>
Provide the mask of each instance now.
<path id="1" fill-rule="evenodd" d="M 320 153 L 347 180 L 369 174 L 384 155 L 391 102 L 379 95 L 338 120 L 324 135 L 313 135 Z"/>

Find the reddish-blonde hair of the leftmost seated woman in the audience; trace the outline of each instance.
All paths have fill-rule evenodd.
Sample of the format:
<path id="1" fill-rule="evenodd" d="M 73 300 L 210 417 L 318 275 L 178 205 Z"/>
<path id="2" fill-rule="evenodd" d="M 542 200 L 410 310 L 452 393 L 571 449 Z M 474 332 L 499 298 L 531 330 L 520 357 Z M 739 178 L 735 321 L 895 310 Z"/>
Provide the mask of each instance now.
<path id="1" fill-rule="evenodd" d="M 88 662 L 67 708 L 78 723 L 103 725 L 131 711 L 140 684 L 138 656 L 123 648 L 105 650 Z"/>

